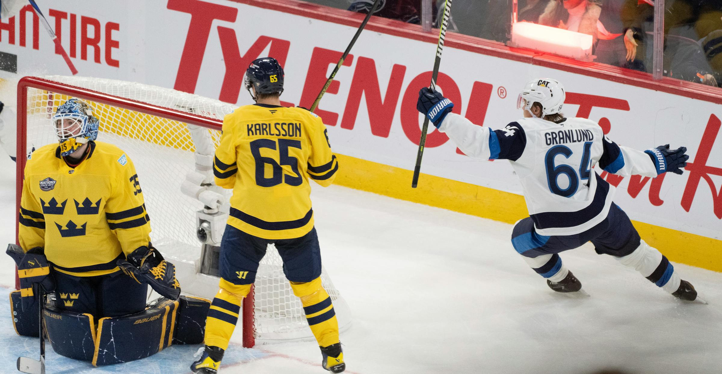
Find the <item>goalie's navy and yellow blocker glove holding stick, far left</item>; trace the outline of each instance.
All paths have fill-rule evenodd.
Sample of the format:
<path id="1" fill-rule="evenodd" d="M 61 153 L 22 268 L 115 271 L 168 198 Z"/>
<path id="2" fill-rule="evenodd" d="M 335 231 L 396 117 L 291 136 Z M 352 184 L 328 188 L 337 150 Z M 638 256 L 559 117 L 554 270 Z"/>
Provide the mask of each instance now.
<path id="1" fill-rule="evenodd" d="M 35 247 L 25 253 L 19 245 L 9 244 L 5 253 L 12 257 L 17 265 L 22 311 L 35 305 L 37 295 L 32 292 L 33 283 L 40 284 L 40 287 L 43 287 L 41 290 L 44 289 L 45 292 L 55 290 L 55 279 L 50 275 L 50 265 L 43 254 L 43 248 Z"/>

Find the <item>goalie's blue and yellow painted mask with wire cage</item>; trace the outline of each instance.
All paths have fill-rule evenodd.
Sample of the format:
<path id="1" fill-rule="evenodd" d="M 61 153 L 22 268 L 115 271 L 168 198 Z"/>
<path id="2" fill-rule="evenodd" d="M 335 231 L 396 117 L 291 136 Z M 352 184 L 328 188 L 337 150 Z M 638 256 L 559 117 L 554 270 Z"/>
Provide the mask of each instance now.
<path id="1" fill-rule="evenodd" d="M 82 144 L 97 139 L 100 120 L 93 116 L 90 105 L 78 99 L 67 100 L 58 106 L 51 121 L 60 142 L 61 156 L 68 156 Z"/>

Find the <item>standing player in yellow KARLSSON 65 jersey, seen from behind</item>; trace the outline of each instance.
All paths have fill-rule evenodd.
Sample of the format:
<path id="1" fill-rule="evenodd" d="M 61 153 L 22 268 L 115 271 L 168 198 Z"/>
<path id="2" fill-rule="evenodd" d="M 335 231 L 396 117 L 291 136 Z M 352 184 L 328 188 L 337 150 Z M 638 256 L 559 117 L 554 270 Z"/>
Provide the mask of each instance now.
<path id="1" fill-rule="evenodd" d="M 214 162 L 218 186 L 232 188 L 223 234 L 222 276 L 206 319 L 204 354 L 195 373 L 214 374 L 238 321 L 243 297 L 256 279 L 266 245 L 274 243 L 284 274 L 300 297 L 308 325 L 321 347 L 322 366 L 341 373 L 346 364 L 334 305 L 321 287 L 321 253 L 309 178 L 329 186 L 339 169 L 321 118 L 303 108 L 284 108 L 283 69 L 274 58 L 258 58 L 245 74 L 254 105 L 225 116 Z"/>

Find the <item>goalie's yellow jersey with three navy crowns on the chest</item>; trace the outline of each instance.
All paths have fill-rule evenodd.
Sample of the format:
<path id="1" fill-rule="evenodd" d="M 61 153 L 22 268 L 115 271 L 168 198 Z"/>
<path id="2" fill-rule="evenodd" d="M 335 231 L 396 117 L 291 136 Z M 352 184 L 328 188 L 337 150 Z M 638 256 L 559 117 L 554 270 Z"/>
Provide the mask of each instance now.
<path id="1" fill-rule="evenodd" d="M 133 162 L 112 144 L 88 145 L 75 168 L 56 144 L 32 152 L 19 212 L 22 249 L 44 247 L 53 269 L 78 277 L 118 271 L 116 260 L 150 240 Z"/>

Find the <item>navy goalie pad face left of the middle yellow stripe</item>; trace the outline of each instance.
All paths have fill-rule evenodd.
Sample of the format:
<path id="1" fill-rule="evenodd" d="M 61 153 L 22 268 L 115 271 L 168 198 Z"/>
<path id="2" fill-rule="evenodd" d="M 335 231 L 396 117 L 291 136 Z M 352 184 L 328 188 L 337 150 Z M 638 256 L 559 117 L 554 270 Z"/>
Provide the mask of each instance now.
<path id="1" fill-rule="evenodd" d="M 53 350 L 75 360 L 92 360 L 95 350 L 95 320 L 90 313 L 74 313 L 53 306 L 43 310 L 43 321 Z"/>

